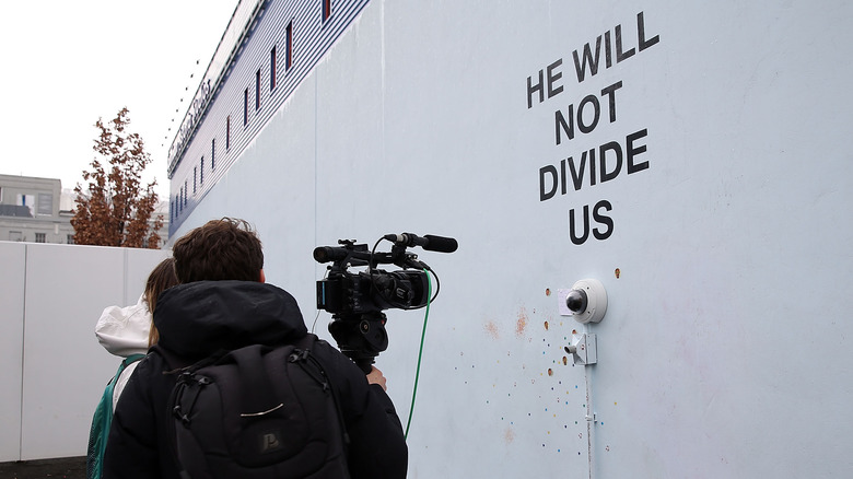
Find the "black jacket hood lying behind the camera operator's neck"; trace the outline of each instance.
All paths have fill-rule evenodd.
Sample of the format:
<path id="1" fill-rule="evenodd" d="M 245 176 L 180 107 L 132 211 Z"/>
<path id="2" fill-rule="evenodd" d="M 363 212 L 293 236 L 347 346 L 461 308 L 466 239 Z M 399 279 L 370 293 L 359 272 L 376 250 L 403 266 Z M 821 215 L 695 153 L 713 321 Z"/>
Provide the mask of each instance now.
<path id="1" fill-rule="evenodd" d="M 160 347 L 185 358 L 249 344 L 278 344 L 307 334 L 296 300 L 255 281 L 198 281 L 157 297 Z"/>

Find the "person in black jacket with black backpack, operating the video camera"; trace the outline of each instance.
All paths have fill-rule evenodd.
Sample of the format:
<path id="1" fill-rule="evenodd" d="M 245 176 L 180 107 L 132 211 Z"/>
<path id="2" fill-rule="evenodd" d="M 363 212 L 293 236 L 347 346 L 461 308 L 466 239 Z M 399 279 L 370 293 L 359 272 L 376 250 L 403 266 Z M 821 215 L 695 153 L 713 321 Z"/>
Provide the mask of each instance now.
<path id="1" fill-rule="evenodd" d="M 182 284 L 157 302 L 160 341 L 116 407 L 104 478 L 406 477 L 382 372 L 307 332 L 248 223 L 210 221 L 173 257 Z"/>

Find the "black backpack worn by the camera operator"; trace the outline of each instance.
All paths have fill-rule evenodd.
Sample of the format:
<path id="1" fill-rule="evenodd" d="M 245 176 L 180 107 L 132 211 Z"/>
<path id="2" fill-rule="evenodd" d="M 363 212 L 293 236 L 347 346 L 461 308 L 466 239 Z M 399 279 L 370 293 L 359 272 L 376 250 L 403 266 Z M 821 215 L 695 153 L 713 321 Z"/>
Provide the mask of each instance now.
<path id="1" fill-rule="evenodd" d="M 349 478 L 335 389 L 300 344 L 223 351 L 178 373 L 170 398 L 184 479 Z"/>

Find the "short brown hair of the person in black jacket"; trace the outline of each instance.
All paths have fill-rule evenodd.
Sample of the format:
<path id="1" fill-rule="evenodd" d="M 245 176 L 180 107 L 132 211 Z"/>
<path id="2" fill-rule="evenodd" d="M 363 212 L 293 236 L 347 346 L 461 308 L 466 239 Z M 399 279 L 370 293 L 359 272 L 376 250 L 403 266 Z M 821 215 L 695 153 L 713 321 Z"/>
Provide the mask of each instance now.
<path id="1" fill-rule="evenodd" d="M 175 273 L 194 281 L 258 281 L 264 268 L 260 240 L 244 220 L 223 218 L 199 226 L 172 247 Z"/>

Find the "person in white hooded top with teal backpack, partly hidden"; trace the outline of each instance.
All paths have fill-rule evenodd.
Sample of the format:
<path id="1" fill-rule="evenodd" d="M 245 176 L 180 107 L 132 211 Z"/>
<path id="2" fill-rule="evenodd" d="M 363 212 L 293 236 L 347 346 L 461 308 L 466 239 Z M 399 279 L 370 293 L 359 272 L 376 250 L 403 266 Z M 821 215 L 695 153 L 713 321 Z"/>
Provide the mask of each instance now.
<path id="1" fill-rule="evenodd" d="M 138 361 L 144 358 L 148 349 L 156 342 L 156 328 L 153 327 L 152 312 L 161 292 L 177 284 L 175 260 L 161 261 L 145 280 L 145 289 L 137 304 L 104 308 L 95 325 L 95 336 L 101 346 L 109 353 L 124 358 L 115 376 L 107 383 L 104 394 L 95 408 L 86 448 L 86 478 L 100 479 L 107 435 L 118 398 L 136 369 Z"/>

